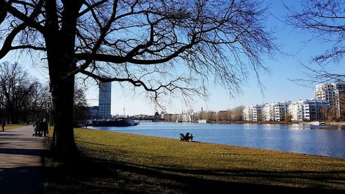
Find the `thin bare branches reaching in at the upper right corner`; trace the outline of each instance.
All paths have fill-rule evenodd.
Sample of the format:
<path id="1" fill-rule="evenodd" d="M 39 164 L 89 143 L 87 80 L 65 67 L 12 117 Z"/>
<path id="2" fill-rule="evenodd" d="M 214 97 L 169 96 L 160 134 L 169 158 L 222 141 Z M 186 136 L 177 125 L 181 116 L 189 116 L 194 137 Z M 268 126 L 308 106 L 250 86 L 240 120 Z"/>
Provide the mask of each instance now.
<path id="1" fill-rule="evenodd" d="M 314 37 L 333 46 L 313 57 L 317 68 L 306 68 L 307 79 L 300 81 L 345 81 L 345 75 L 332 72 L 326 64 L 339 64 L 345 55 L 345 2 L 343 0 L 301 1 L 301 10 L 288 8 L 287 23 L 295 28 L 311 32 Z"/>

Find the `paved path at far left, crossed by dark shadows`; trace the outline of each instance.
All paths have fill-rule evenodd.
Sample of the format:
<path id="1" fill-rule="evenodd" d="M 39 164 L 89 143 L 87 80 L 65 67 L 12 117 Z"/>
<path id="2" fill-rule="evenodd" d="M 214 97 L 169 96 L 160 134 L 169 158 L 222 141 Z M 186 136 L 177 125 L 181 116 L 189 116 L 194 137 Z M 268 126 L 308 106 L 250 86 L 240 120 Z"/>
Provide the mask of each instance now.
<path id="1" fill-rule="evenodd" d="M 32 126 L 0 132 L 0 193 L 44 193 L 43 137 Z"/>

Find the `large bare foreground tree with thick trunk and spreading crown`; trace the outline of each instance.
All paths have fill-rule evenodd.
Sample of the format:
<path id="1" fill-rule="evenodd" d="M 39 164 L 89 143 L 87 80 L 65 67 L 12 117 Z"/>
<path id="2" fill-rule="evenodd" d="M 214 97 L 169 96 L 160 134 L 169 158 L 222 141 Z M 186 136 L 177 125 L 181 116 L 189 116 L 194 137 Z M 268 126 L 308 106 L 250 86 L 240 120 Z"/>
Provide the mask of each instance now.
<path id="1" fill-rule="evenodd" d="M 12 50 L 46 55 L 52 149 L 74 155 L 77 74 L 144 88 L 157 103 L 204 97 L 210 77 L 234 95 L 276 50 L 265 12 L 257 0 L 0 0 L 0 59 Z"/>

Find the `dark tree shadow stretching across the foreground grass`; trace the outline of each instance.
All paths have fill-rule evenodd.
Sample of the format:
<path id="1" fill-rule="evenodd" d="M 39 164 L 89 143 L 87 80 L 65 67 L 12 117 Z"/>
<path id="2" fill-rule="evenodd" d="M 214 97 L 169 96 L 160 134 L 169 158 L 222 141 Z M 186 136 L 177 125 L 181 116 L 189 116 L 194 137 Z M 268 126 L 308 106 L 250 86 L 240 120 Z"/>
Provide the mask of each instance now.
<path id="1" fill-rule="evenodd" d="M 79 157 L 67 163 L 46 157 L 45 164 L 50 193 L 343 193 L 345 187 L 330 190 L 322 186 L 323 182 L 344 184 L 344 179 L 332 175 L 344 172 L 318 174 L 299 171 L 279 173 L 153 168 L 90 157 Z M 230 180 L 204 178 L 208 176 L 228 177 Z M 314 184 L 313 188 L 271 186 L 256 183 L 257 177 L 266 182 L 302 179 Z M 231 181 L 232 178 L 237 182 Z M 252 178 L 255 183 L 238 182 Z"/>

